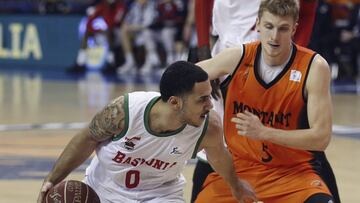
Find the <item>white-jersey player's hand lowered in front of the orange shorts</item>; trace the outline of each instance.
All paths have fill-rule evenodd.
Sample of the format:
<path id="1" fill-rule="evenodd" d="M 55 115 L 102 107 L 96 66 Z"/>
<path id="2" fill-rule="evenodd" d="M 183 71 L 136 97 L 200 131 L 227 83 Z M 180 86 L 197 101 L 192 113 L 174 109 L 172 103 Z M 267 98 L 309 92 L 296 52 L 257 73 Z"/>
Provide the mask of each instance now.
<path id="1" fill-rule="evenodd" d="M 250 184 L 241 179 L 238 179 L 236 187 L 231 187 L 231 193 L 239 203 L 258 201 Z"/>

